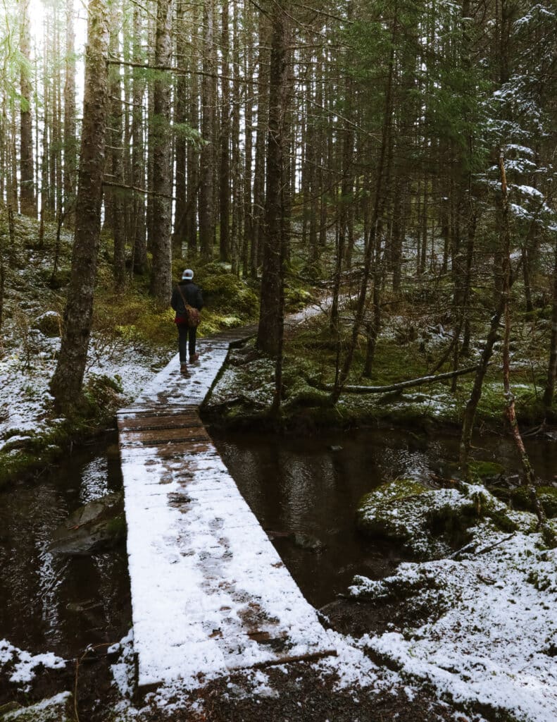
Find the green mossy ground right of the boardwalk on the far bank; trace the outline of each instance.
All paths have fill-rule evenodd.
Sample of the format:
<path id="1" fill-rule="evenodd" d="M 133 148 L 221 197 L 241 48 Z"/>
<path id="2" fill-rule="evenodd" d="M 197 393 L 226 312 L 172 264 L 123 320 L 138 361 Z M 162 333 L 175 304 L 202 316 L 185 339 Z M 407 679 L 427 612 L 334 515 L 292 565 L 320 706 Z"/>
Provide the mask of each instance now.
<path id="1" fill-rule="evenodd" d="M 349 313 L 348 309 L 345 315 L 349 316 Z M 520 319 L 520 323 L 523 334 L 534 337 L 533 345 L 538 350 L 536 355 L 530 356 L 532 344 L 529 343 L 515 353 L 512 391 L 519 423 L 534 425 L 548 417 L 540 401 L 547 360 L 541 355 L 541 339 L 538 338 L 546 336 L 548 329 L 539 324 L 532 327 L 531 322 L 524 319 Z M 524 324 L 529 328 L 525 329 Z M 348 385 L 389 386 L 431 373 L 435 360 L 449 344 L 448 337 L 432 333 L 427 317 L 416 323 L 410 337 L 402 333 L 402 325 L 400 316 L 385 316 L 369 378 L 364 376 L 367 342 L 364 334 L 359 337 Z M 307 321 L 301 331 L 286 339 L 284 402 L 278 422 L 282 427 L 298 430 L 299 427 L 351 427 L 378 422 L 407 427 L 460 425 L 472 388 L 472 373 L 458 378 L 454 389 L 451 380 L 444 380 L 387 393 L 346 392 L 338 404 L 331 406 L 330 393 L 323 388 L 334 383 L 338 359 L 342 362 L 349 332 L 349 323 L 346 323 L 337 344 L 324 315 Z M 479 333 L 480 329 L 470 357 L 462 365 L 472 366 L 478 360 L 481 353 Z M 273 399 L 273 367 L 272 360 L 260 357 L 256 352 L 232 355 L 227 373 L 214 388 L 214 395 L 207 404 L 208 413 L 211 413 L 211 407 L 218 409 L 219 421 L 230 425 L 253 422 L 254 415 L 266 417 Z M 447 363 L 437 373 L 450 370 Z M 501 430 L 504 409 L 501 353 L 496 349 L 478 406 L 478 427 Z"/>

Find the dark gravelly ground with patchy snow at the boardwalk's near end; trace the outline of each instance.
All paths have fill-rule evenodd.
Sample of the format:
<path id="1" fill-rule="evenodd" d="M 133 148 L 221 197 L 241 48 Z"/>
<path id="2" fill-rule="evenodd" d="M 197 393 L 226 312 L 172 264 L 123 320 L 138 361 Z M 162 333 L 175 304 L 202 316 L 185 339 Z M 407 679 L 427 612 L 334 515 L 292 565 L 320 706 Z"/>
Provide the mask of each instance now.
<path id="1" fill-rule="evenodd" d="M 23 705 L 29 722 L 483 722 L 439 699 L 434 689 L 405 680 L 374 664 L 350 639 L 335 635 L 339 656 L 259 670 L 237 671 L 205 681 L 177 681 L 144 697 L 133 696 L 130 640 L 115 664 L 104 652 L 48 669 L 42 659 L 6 664 L 0 644 L 0 719 L 12 718 L 2 705 Z M 13 653 L 13 651 L 12 651 Z M 4 664 L 3 664 L 4 663 Z M 34 672 L 32 664 L 38 664 Z M 19 683 L 14 684 L 14 676 Z M 19 691 L 16 688 L 19 687 Z M 45 700 L 69 690 L 63 712 L 45 714 Z M 43 708 L 34 708 L 37 703 Z M 23 712 L 23 708 L 20 708 Z M 76 709 L 78 710 L 76 713 Z M 56 716 L 55 716 L 56 715 Z"/>

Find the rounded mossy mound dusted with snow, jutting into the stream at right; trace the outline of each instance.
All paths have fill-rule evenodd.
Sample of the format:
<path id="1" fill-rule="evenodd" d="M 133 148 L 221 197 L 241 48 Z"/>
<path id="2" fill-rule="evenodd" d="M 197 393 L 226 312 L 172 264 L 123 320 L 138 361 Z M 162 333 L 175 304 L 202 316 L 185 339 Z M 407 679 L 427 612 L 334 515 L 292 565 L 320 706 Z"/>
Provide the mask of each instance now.
<path id="1" fill-rule="evenodd" d="M 361 499 L 356 523 L 364 534 L 391 539 L 416 559 L 437 559 L 466 544 L 470 527 L 485 518 L 498 529 L 516 529 L 504 503 L 482 487 L 431 489 L 395 479 Z"/>

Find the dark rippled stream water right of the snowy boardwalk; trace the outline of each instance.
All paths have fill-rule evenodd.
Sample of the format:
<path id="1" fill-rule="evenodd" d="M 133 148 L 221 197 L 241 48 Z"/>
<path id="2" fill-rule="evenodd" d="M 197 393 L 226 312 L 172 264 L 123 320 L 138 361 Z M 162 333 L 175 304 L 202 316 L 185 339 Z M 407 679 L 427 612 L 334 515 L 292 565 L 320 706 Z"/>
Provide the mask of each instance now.
<path id="1" fill-rule="evenodd" d="M 361 496 L 396 477 L 452 476 L 459 441 L 449 433 L 425 438 L 394 429 L 297 439 L 242 433 L 214 440 L 245 500 L 275 536 L 286 566 L 317 607 L 345 592 L 354 574 L 378 578 L 400 561 L 392 546 L 356 531 Z M 492 436 L 475 444 L 481 447 L 475 451 L 478 458 L 518 472 L 508 440 Z M 538 475 L 553 480 L 556 442 L 535 440 L 528 451 Z M 277 533 L 297 533 L 302 539 Z M 304 536 L 315 548 L 304 548 Z"/>

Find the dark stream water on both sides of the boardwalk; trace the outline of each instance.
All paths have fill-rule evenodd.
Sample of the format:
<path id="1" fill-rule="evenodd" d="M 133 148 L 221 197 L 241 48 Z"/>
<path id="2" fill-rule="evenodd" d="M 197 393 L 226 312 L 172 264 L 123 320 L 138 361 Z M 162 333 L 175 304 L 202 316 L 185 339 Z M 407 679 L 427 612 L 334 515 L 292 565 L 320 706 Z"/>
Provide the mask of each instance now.
<path id="1" fill-rule="evenodd" d="M 33 484 L 0 492 L 0 639 L 35 653 L 76 656 L 114 642 L 131 625 L 126 549 L 90 557 L 48 552 L 53 531 L 80 505 L 122 480 L 108 438 L 74 452 Z M 395 477 L 452 474 L 458 438 L 401 430 L 282 438 L 242 433 L 215 438 L 247 503 L 268 531 L 307 599 L 317 607 L 346 591 L 354 574 L 390 573 L 400 560 L 389 544 L 358 534 L 361 496 Z M 475 440 L 478 458 L 517 470 L 508 440 Z M 557 474 L 557 444 L 528 445 L 539 477 Z"/>

